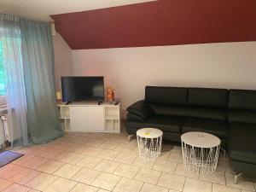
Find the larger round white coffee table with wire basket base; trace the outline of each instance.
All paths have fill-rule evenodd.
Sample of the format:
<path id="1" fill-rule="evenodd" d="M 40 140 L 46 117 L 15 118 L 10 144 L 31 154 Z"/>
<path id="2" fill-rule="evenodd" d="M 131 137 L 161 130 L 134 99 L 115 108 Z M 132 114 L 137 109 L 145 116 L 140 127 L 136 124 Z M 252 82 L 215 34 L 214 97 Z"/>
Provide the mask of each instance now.
<path id="1" fill-rule="evenodd" d="M 201 174 L 215 172 L 220 139 L 205 132 L 187 132 L 181 136 L 183 164 L 189 171 Z"/>

